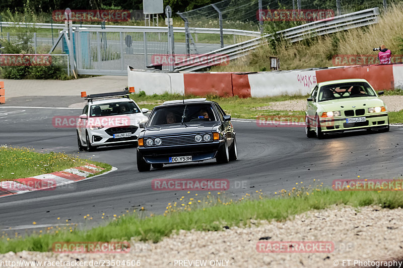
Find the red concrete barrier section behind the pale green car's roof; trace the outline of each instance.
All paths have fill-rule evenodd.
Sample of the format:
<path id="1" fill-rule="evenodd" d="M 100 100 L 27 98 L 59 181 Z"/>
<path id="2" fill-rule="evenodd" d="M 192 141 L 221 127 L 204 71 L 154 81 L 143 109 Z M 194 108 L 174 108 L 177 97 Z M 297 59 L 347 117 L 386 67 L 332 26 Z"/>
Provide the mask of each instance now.
<path id="1" fill-rule="evenodd" d="M 369 65 L 316 71 L 317 82 L 348 78 L 364 78 L 377 91 L 394 88 L 393 65 Z"/>

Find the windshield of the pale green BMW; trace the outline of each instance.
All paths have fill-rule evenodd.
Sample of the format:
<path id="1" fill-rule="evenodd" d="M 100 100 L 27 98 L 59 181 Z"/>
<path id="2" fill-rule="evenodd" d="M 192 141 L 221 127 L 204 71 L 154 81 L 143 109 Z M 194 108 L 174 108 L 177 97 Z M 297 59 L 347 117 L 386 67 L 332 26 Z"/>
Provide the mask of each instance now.
<path id="1" fill-rule="evenodd" d="M 329 84 L 320 87 L 319 102 L 367 96 L 376 95 L 371 86 L 366 82 Z"/>

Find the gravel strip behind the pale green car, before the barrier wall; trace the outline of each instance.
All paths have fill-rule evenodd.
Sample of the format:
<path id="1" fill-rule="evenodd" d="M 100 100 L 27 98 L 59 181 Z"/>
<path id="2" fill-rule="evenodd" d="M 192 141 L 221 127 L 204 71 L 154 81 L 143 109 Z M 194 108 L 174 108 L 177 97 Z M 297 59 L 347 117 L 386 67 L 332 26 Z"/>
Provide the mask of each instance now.
<path id="1" fill-rule="evenodd" d="M 387 111 L 398 112 L 403 110 L 403 96 L 381 96 L 381 99 L 385 102 Z M 257 110 L 305 111 L 306 100 L 275 102 L 267 106 L 258 107 Z"/>

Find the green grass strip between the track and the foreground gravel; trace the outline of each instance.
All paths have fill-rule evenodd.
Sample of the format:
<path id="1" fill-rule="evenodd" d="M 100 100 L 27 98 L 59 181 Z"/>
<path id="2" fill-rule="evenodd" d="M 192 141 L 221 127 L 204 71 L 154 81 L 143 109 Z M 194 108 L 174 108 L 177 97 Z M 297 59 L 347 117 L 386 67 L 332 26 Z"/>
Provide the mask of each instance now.
<path id="1" fill-rule="evenodd" d="M 211 197 L 214 201 L 207 202 L 209 195 L 200 203 L 189 202 L 183 206 L 178 204 L 184 209 L 167 211 L 164 215 L 144 217 L 144 214 L 135 213 L 118 219 L 114 215 L 114 219 L 107 225 L 90 230 L 54 231 L 49 234 L 33 234 L 25 239 L 3 238 L 0 253 L 22 250 L 49 251 L 54 242 L 62 241 L 121 241 L 136 237 L 142 241 L 158 242 L 178 230 L 219 231 L 224 226 L 249 226 L 251 219 L 284 221 L 294 215 L 312 209 L 325 209 L 331 205 L 351 205 L 357 208 L 379 205 L 388 209 L 403 206 L 403 194 L 399 191 L 338 192 L 315 189 L 309 194 L 302 189 L 291 193 L 289 196 L 287 191 L 282 191 L 282 196 L 275 198 L 263 198 L 261 193 L 258 193 L 257 198 L 242 198 L 236 202 L 224 201 L 225 196 L 215 199 Z"/>

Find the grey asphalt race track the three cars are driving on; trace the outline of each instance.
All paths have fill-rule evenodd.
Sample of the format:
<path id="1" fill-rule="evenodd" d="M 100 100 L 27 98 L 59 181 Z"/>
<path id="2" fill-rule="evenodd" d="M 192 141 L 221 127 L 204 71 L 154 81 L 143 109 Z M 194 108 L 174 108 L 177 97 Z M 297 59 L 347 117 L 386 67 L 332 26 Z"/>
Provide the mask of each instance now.
<path id="1" fill-rule="evenodd" d="M 318 140 L 306 138 L 303 127 L 258 127 L 254 122 L 234 120 L 238 160 L 221 165 L 214 160 L 176 164 L 140 173 L 135 147 L 104 147 L 79 153 L 76 129 L 52 126 L 53 116 L 78 116 L 80 109 L 10 108 L 68 107 L 79 102 L 82 102 L 79 97 L 12 98 L 0 106 L 0 144 L 28 146 L 41 152 L 66 152 L 107 162 L 117 170 L 68 188 L 0 198 L 0 230 L 12 227 L 11 231 L 24 233 L 34 227 L 65 224 L 65 220 L 85 228 L 104 223 L 102 213 L 110 217 L 141 207 L 147 212 L 163 213 L 169 202 L 180 204 L 182 196 L 188 200 L 196 193 L 198 197 L 207 194 L 153 191 L 154 178 L 226 178 L 231 186 L 226 193 L 235 198 L 256 190 L 273 195 L 281 189 L 290 190 L 296 183 L 313 184 L 313 179 L 330 187 L 335 179 L 353 179 L 358 175 L 403 176 L 400 127 L 391 127 L 387 133 L 351 132 Z M 247 188 L 236 189 L 235 185 L 242 181 Z M 83 216 L 87 214 L 94 220 L 85 220 Z M 37 225 L 32 225 L 34 221 Z"/>

